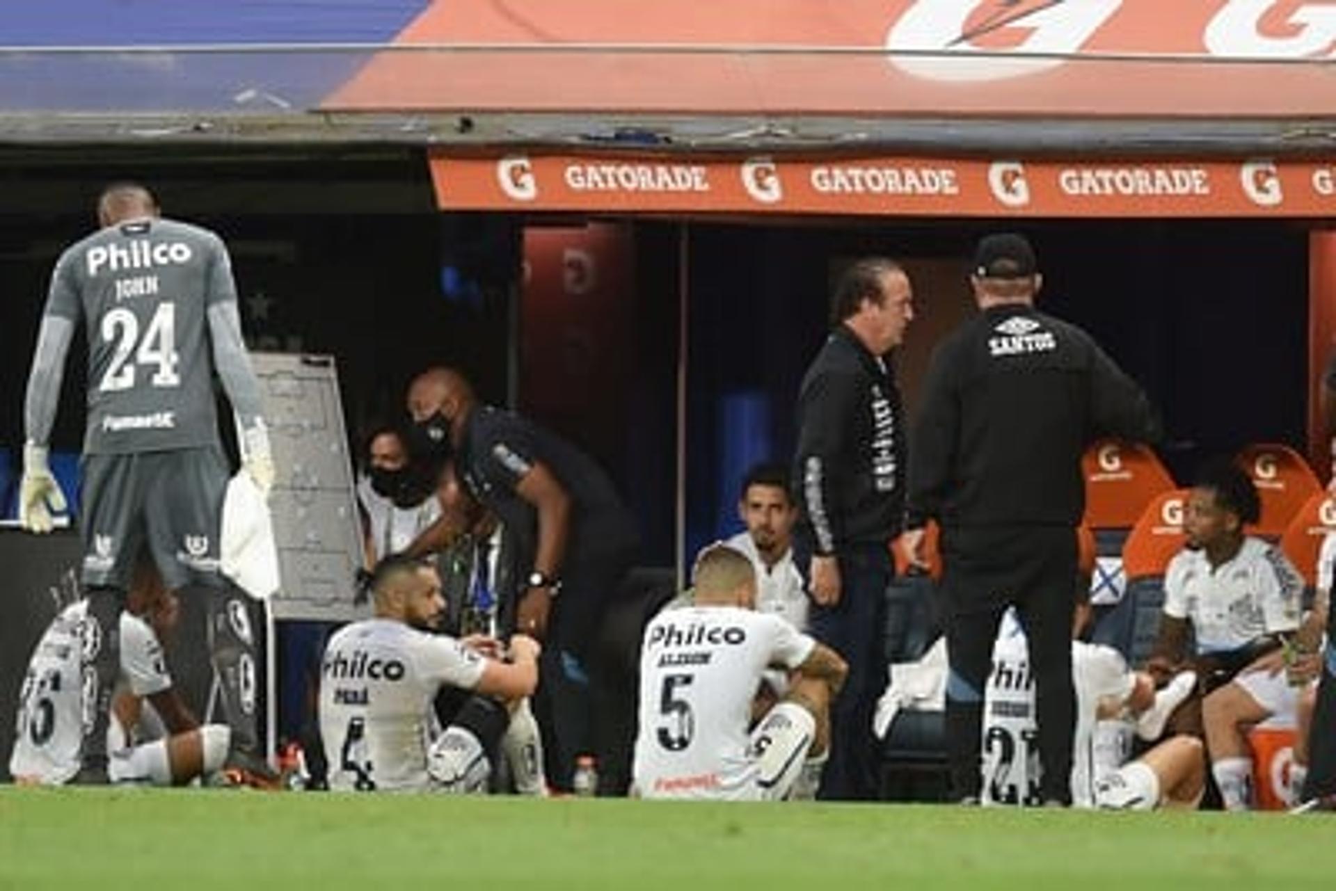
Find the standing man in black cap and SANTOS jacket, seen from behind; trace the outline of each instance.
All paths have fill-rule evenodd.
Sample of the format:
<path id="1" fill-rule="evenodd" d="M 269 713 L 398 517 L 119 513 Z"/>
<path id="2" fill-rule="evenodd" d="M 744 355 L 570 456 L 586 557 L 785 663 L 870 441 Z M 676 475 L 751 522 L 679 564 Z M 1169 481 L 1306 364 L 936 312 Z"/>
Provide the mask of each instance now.
<path id="1" fill-rule="evenodd" d="M 1015 605 L 1037 687 L 1047 803 L 1070 803 L 1071 610 L 1081 454 L 1097 437 L 1153 441 L 1145 394 L 1081 329 L 1034 309 L 1041 277 L 1021 235 L 979 242 L 982 313 L 933 353 L 914 423 L 907 526 L 942 526 L 953 795 L 977 801 L 983 688 L 998 621 Z M 921 532 L 907 533 L 918 552 Z"/>

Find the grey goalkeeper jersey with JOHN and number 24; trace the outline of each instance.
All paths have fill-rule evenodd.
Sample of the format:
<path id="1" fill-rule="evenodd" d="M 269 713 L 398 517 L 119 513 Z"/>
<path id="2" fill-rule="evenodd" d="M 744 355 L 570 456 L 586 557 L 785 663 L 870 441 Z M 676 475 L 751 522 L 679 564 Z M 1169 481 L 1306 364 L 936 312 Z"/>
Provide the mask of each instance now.
<path id="1" fill-rule="evenodd" d="M 198 226 L 130 220 L 65 250 L 45 314 L 87 321 L 86 453 L 218 442 L 207 317 L 227 302 L 227 248 Z"/>

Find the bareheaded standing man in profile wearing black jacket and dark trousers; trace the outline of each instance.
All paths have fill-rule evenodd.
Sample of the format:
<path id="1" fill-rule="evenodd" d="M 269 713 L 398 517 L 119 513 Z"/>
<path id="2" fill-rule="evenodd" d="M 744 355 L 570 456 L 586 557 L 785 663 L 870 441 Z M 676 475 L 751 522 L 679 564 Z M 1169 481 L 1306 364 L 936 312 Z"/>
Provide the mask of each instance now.
<path id="1" fill-rule="evenodd" d="M 803 524 L 799 565 L 810 554 L 808 628 L 848 663 L 831 707 L 830 761 L 818 796 L 876 795 L 872 708 L 886 679 L 880 645 L 890 541 L 904 512 L 900 394 L 886 355 L 914 318 L 908 277 L 891 260 L 856 262 L 831 306 L 834 330 L 798 397 L 795 493 Z"/>

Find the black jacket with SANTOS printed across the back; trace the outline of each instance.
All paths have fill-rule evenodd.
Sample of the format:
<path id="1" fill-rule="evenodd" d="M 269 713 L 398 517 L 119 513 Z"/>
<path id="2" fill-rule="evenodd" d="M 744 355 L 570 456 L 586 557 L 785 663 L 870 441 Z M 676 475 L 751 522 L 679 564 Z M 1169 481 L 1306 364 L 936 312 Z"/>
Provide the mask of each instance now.
<path id="1" fill-rule="evenodd" d="M 1075 526 L 1086 446 L 1158 433 L 1145 394 L 1089 334 L 1021 303 L 990 307 L 933 351 L 908 525 Z"/>

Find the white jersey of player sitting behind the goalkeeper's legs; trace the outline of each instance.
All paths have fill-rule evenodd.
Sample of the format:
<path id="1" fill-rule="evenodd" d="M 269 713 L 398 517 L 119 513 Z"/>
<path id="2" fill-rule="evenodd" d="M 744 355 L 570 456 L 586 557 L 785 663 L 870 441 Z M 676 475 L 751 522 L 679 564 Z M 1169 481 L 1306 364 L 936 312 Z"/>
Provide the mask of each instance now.
<path id="1" fill-rule="evenodd" d="M 71 604 L 56 616 L 28 660 L 19 692 L 15 744 L 9 773 L 48 785 L 69 781 L 79 772 L 79 741 L 84 721 L 81 673 L 84 617 L 88 601 Z M 152 696 L 171 687 L 167 661 L 152 629 L 130 613 L 120 613 L 120 673 L 135 696 Z M 90 683 L 92 677 L 90 676 Z M 112 739 L 108 737 L 108 753 Z"/>

